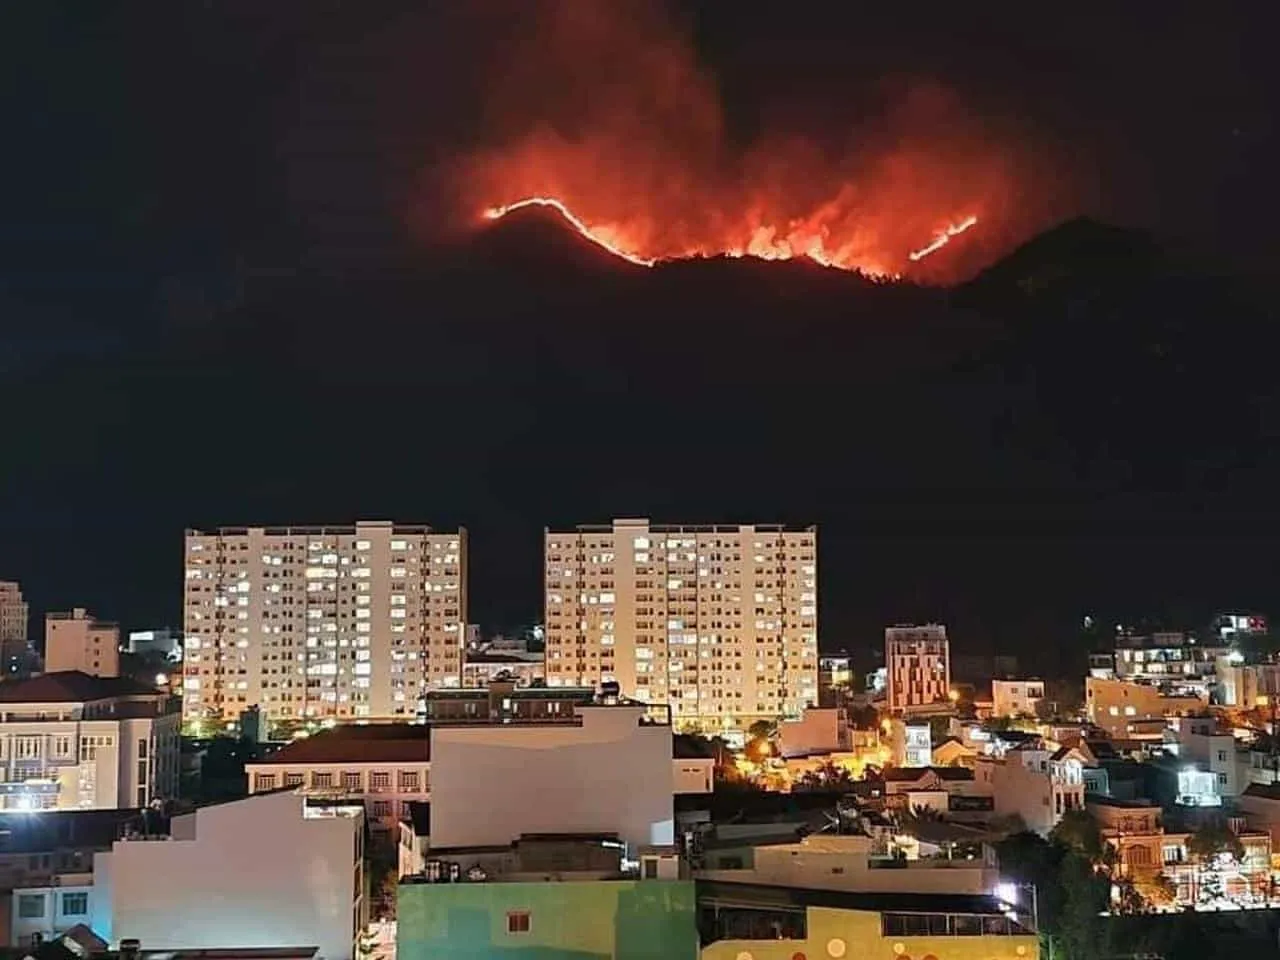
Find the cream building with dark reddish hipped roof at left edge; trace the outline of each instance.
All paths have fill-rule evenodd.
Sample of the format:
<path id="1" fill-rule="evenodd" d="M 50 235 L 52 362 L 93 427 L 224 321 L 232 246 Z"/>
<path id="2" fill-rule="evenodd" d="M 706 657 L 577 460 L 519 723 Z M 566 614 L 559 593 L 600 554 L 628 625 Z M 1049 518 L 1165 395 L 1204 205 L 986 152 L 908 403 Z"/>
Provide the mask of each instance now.
<path id="1" fill-rule="evenodd" d="M 147 806 L 178 794 L 175 699 L 76 671 L 0 684 L 4 809 Z"/>

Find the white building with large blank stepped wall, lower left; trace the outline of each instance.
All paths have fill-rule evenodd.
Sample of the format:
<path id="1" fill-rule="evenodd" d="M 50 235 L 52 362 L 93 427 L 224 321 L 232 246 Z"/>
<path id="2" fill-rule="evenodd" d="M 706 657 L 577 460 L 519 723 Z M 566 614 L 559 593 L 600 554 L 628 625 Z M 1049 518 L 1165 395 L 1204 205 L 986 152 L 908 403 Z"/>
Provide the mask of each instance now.
<path id="1" fill-rule="evenodd" d="M 88 925 L 147 950 L 316 946 L 351 960 L 367 924 L 364 815 L 292 791 L 175 817 L 93 858 Z"/>

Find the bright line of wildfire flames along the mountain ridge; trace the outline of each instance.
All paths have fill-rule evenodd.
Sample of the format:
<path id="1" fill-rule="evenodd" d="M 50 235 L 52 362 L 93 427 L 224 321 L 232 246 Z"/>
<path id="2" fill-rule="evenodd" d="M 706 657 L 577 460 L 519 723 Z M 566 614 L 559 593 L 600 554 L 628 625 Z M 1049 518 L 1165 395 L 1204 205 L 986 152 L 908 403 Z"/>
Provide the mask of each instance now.
<path id="1" fill-rule="evenodd" d="M 777 230 L 773 228 L 758 227 L 741 246 L 728 246 L 718 251 L 698 248 L 682 253 L 668 255 L 666 257 L 649 257 L 640 253 L 639 250 L 635 248 L 635 244 L 627 243 L 621 236 L 622 232 L 617 228 L 588 224 L 577 214 L 570 210 L 564 201 L 557 197 L 525 197 L 511 204 L 492 206 L 484 211 L 484 218 L 488 220 L 500 220 L 507 214 L 531 206 L 554 210 L 581 237 L 613 256 L 635 264 L 636 266 L 653 266 L 662 260 L 716 255 L 731 257 L 750 256 L 760 260 L 791 260 L 794 257 L 808 257 L 809 260 L 822 264 L 823 266 L 838 270 L 855 270 L 872 278 L 899 278 L 897 273 L 887 270 L 876 262 L 867 261 L 865 259 L 851 259 L 847 255 L 842 255 L 840 250 L 827 250 L 826 236 L 823 233 L 815 233 L 809 238 L 808 243 L 797 244 L 797 230 L 795 229 L 792 229 L 788 236 L 778 237 Z M 936 253 L 942 250 L 942 247 L 950 243 L 955 237 L 959 237 L 965 230 L 977 225 L 977 216 L 966 216 L 957 223 L 948 224 L 937 233 L 931 243 L 920 247 L 919 250 L 910 251 L 908 253 L 908 260 L 918 262 L 931 253 Z"/>

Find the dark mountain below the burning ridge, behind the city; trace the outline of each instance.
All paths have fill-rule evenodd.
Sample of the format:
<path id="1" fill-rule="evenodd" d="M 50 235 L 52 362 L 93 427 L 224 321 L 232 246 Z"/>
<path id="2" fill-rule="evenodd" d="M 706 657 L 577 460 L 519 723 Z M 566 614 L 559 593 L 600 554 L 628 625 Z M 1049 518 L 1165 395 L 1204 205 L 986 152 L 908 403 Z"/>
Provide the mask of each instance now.
<path id="1" fill-rule="evenodd" d="M 832 646 L 1268 609 L 1272 320 L 1087 221 L 954 291 L 636 268 L 545 211 L 376 266 L 234 265 L 140 297 L 124 347 L 5 378 L 0 571 L 156 625 L 188 525 L 463 524 L 500 623 L 538 616 L 544 525 L 650 515 L 822 525 Z"/>

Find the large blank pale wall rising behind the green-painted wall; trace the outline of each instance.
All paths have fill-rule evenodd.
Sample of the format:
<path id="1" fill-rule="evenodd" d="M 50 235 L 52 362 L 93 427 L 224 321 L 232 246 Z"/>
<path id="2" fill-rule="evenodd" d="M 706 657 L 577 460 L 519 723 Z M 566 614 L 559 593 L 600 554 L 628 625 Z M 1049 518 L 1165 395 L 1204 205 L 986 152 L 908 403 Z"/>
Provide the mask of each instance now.
<path id="1" fill-rule="evenodd" d="M 582 726 L 431 730 L 431 846 L 509 844 L 521 833 L 617 833 L 671 844 L 671 728 L 644 708 L 580 708 Z"/>

